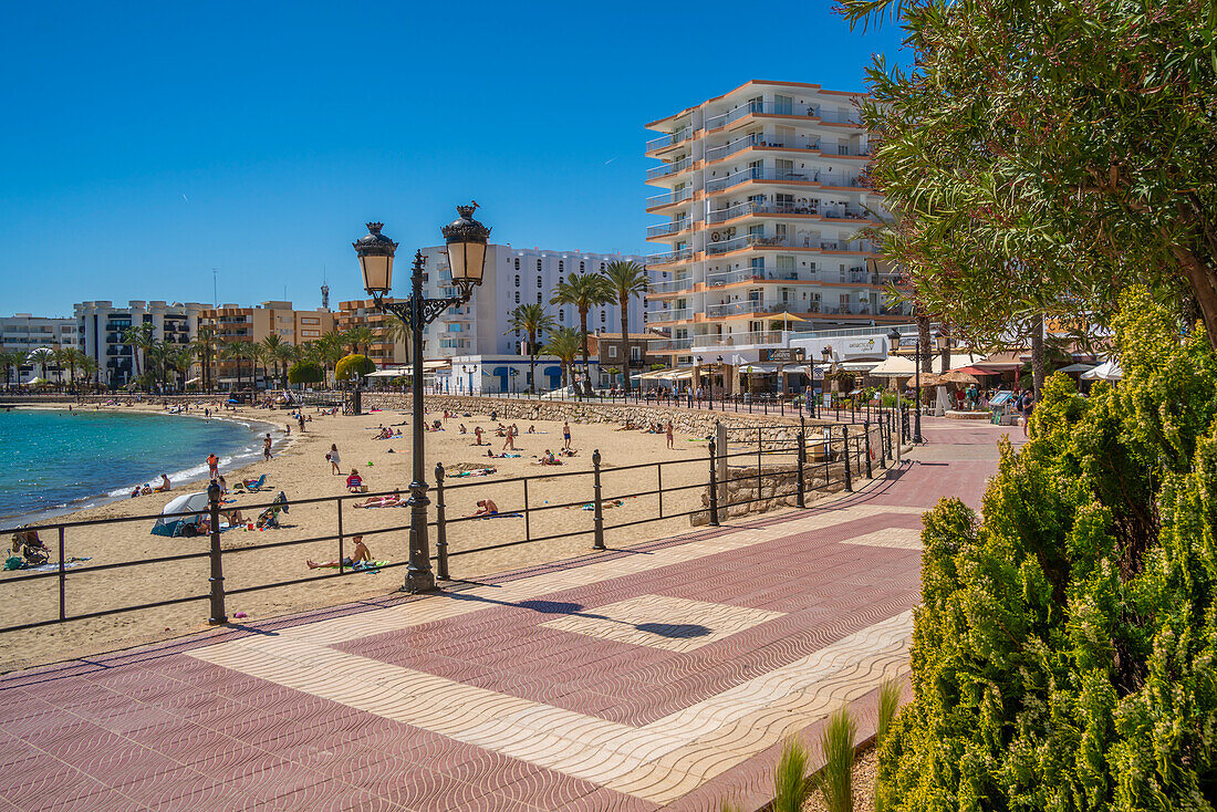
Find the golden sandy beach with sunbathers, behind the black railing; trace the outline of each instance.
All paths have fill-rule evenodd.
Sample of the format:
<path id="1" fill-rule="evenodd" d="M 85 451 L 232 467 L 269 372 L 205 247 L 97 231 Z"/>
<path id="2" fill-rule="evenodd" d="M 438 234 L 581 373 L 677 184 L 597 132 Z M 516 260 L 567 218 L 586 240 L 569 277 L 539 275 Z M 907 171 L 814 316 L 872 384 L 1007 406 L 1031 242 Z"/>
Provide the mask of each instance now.
<path id="1" fill-rule="evenodd" d="M 123 410 L 158 410 L 157 407 L 117 407 Z M 225 413 L 226 416 L 267 421 L 279 425 L 280 431 L 288 421 L 285 411 L 242 408 Z M 246 517 L 249 505 L 269 503 L 282 491 L 292 500 L 346 494 L 346 475 L 352 469 L 360 472 L 370 492 L 400 488 L 403 500 L 410 481 L 409 426 L 399 425 L 409 415 L 399 411 L 374 411 L 360 416 L 313 414 L 305 431 L 292 425 L 291 437 L 282 443 L 269 461 L 258 461 L 239 470 L 223 471 L 229 485 L 242 480 L 267 476 L 267 486 L 260 493 L 232 497 L 225 510 L 242 509 Z M 428 422 L 441 419 L 441 414 L 428 414 Z M 469 433 L 461 435 L 460 424 Z M 656 469 L 615 471 L 615 467 L 639 463 L 678 461 L 685 464 L 664 465 L 663 488 L 682 485 L 689 487 L 663 494 L 664 515 L 700 509 L 702 487 L 706 482 L 708 461 L 706 443 L 701 438 L 677 433 L 673 449 L 666 446 L 663 435 L 639 431 L 616 431 L 606 424 L 572 424 L 572 444 L 577 455 L 562 459 L 563 465 L 548 467 L 537 464 L 537 457 L 546 449 L 562 447 L 562 424 L 554 421 L 526 422 L 517 420 L 521 431 L 516 439 L 520 457 L 489 459 L 487 450 L 499 453 L 504 438 L 497 437 L 494 424 L 488 415 L 456 416 L 443 421 L 444 430 L 427 433 L 427 482 L 436 499 L 434 464 L 442 461 L 448 470 L 444 502 L 447 508 L 449 553 L 453 554 L 450 575 L 458 579 L 475 579 L 493 572 L 514 570 L 527 565 L 553 561 L 588 553 L 591 549 L 593 511 L 583 510 L 583 503 L 593 498 L 591 453 L 599 448 L 602 455 L 602 498 L 655 491 L 658 486 Z M 403 432 L 393 439 L 374 439 L 380 426 L 393 426 Z M 483 442 L 475 446 L 473 430 L 484 430 Z M 532 429 L 535 433 L 529 433 Z M 697 442 L 690 442 L 697 439 Z M 342 475 L 332 472 L 326 452 L 337 446 L 342 461 Z M 184 465 L 195 460 L 183 460 Z M 464 470 L 492 466 L 495 471 L 487 476 L 455 476 Z M 556 476 L 561 475 L 561 476 Z M 529 480 L 527 497 L 521 482 L 504 482 L 512 477 L 544 477 Z M 125 499 L 72 514 L 66 519 L 122 519 L 158 514 L 161 509 L 181 492 L 202 489 L 202 483 L 174 488 L 168 494 L 152 494 Z M 493 499 L 500 514 L 511 514 L 527 504 L 543 508 L 526 521 L 520 516 L 503 515 L 489 520 L 458 521 L 476 510 L 478 499 Z M 377 560 L 405 561 L 409 523 L 408 508 L 355 509 L 358 499 L 342 505 L 342 528 L 346 537 L 343 551 L 349 555 L 349 537 L 365 534 L 365 542 Z M 573 506 L 556 506 L 576 503 Z M 606 543 L 608 547 L 628 545 L 641 541 L 673 536 L 690 530 L 689 519 L 679 516 L 650 521 L 633 527 L 612 530 L 611 526 L 658 515 L 658 498 L 654 494 L 626 498 L 619 506 L 605 510 Z M 432 517 L 434 509 L 432 508 Z M 338 508 L 335 502 L 295 505 L 281 516 L 282 527 L 269 531 L 229 530 L 223 533 L 225 588 L 234 593 L 245 587 L 262 583 L 280 583 L 307 578 L 332 570 L 309 570 L 305 560 L 327 561 L 338 558 L 338 542 L 309 542 L 290 547 L 262 550 L 236 551 L 257 544 L 313 539 L 337 533 Z M 60 521 L 65 520 L 61 517 Z M 68 556 L 89 558 L 85 567 L 131 561 L 138 559 L 204 553 L 206 538 L 164 538 L 152 536 L 152 520 L 139 520 L 112 525 L 68 528 L 66 553 Z M 579 534 L 548 539 L 561 533 Z M 461 555 L 488 544 L 537 539 L 499 550 Z M 7 543 L 9 539 L 5 539 Z M 54 532 L 44 533 L 44 541 L 52 547 L 57 543 Z M 436 551 L 436 534 L 432 528 L 431 547 Z M 52 556 L 57 558 L 57 556 Z M 152 603 L 176 597 L 206 595 L 208 592 L 208 559 L 206 556 L 168 564 L 141 565 L 101 572 L 74 572 L 69 570 L 66 588 L 66 606 L 69 615 L 100 611 L 107 607 Z M 5 572 L 2 589 L 6 593 L 2 620 L 5 625 L 21 620 L 54 618 L 58 612 L 58 583 L 56 578 L 43 578 L 22 583 L 23 575 Z M 404 569 L 388 569 L 378 573 L 355 573 L 342 578 L 329 578 L 230 594 L 228 612 L 245 612 L 249 618 L 265 620 L 271 616 L 333 605 L 371 595 L 382 595 L 397 589 L 404 579 Z M 112 650 L 157 639 L 172 638 L 207 628 L 208 606 L 206 600 L 196 600 L 167 607 L 123 612 L 108 617 L 74 621 L 40 629 L 0 635 L 2 655 L 0 670 L 27 667 L 54 662 L 90 653 Z"/>

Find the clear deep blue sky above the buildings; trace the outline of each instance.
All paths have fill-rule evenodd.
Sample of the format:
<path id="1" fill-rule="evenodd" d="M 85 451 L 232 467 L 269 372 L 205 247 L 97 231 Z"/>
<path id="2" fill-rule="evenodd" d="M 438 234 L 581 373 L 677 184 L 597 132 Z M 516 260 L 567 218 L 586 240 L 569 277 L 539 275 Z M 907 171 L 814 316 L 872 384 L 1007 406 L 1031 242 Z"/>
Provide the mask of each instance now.
<path id="1" fill-rule="evenodd" d="M 644 124 L 748 79 L 863 89 L 898 30 L 824 0 L 10 2 L 0 315 L 84 299 L 361 295 L 369 219 L 439 242 L 638 251 Z M 650 248 L 654 251 L 655 248 Z"/>

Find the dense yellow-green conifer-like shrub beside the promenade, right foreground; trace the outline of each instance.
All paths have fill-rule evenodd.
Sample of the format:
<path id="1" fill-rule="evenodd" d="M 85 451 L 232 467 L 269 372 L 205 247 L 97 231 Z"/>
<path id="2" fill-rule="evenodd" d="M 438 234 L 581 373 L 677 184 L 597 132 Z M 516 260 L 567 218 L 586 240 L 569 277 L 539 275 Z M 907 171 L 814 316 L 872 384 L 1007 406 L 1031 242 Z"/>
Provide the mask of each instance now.
<path id="1" fill-rule="evenodd" d="M 1125 371 L 1049 379 L 981 516 L 925 515 L 885 810 L 1212 810 L 1217 354 L 1133 289 Z"/>

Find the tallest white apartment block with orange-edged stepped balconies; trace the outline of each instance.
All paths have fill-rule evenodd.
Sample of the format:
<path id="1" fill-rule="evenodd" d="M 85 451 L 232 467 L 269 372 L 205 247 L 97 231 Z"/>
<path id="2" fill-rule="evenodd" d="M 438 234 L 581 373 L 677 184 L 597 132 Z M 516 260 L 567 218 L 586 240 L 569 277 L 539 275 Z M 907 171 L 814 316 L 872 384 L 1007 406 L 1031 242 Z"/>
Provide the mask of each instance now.
<path id="1" fill-rule="evenodd" d="M 908 306 L 884 292 L 893 275 L 857 235 L 886 214 L 864 178 L 860 96 L 752 80 L 646 125 L 664 133 L 646 145 L 662 162 L 646 183 L 664 190 L 646 201 L 664 218 L 647 229 L 664 243 L 647 267 L 667 273 L 652 282 L 646 321 L 672 336 L 655 352 L 684 365 L 780 343 L 784 326 L 908 321 Z"/>

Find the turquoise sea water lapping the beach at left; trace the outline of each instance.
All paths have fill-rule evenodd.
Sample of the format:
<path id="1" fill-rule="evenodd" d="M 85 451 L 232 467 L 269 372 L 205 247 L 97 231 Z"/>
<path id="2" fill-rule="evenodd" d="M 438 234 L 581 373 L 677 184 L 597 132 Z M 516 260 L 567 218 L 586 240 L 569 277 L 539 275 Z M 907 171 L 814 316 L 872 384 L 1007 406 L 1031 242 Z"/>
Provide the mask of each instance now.
<path id="1" fill-rule="evenodd" d="M 181 415 L 0 410 L 0 527 L 125 497 L 136 485 L 174 487 L 260 457 L 258 426 Z"/>

